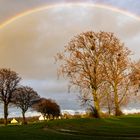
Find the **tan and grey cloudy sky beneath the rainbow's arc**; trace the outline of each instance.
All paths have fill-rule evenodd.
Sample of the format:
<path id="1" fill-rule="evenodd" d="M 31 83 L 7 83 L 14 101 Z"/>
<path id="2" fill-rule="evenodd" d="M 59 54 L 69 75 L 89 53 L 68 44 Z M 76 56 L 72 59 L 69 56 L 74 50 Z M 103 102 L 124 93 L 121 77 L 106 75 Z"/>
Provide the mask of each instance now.
<path id="1" fill-rule="evenodd" d="M 0 30 L 0 64 L 17 71 L 24 84 L 56 99 L 63 109 L 78 108 L 76 94 L 67 93 L 67 81 L 57 80 L 56 53 L 74 35 L 104 30 L 114 32 L 138 56 L 139 29 L 140 21 L 107 9 L 59 7 L 32 13 Z"/>

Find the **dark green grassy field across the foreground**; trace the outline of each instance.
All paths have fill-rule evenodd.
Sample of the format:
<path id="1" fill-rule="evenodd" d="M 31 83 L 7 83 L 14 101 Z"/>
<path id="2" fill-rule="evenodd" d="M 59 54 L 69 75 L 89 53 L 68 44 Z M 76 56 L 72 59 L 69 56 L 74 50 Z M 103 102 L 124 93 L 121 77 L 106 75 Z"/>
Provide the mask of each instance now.
<path id="1" fill-rule="evenodd" d="M 55 120 L 25 126 L 1 126 L 1 140 L 137 140 L 140 116 Z"/>

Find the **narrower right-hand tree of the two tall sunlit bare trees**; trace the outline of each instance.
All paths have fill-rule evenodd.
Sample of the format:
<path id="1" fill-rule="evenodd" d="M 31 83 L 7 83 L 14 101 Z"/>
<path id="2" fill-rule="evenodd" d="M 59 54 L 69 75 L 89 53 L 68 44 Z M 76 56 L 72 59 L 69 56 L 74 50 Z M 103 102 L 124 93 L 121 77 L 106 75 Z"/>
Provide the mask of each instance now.
<path id="1" fill-rule="evenodd" d="M 130 81 L 130 53 L 128 48 L 119 39 L 110 36 L 111 45 L 107 46 L 104 56 L 104 72 L 106 81 L 110 84 L 114 93 L 115 115 L 121 115 L 121 105 L 127 103 L 131 81 Z"/>

